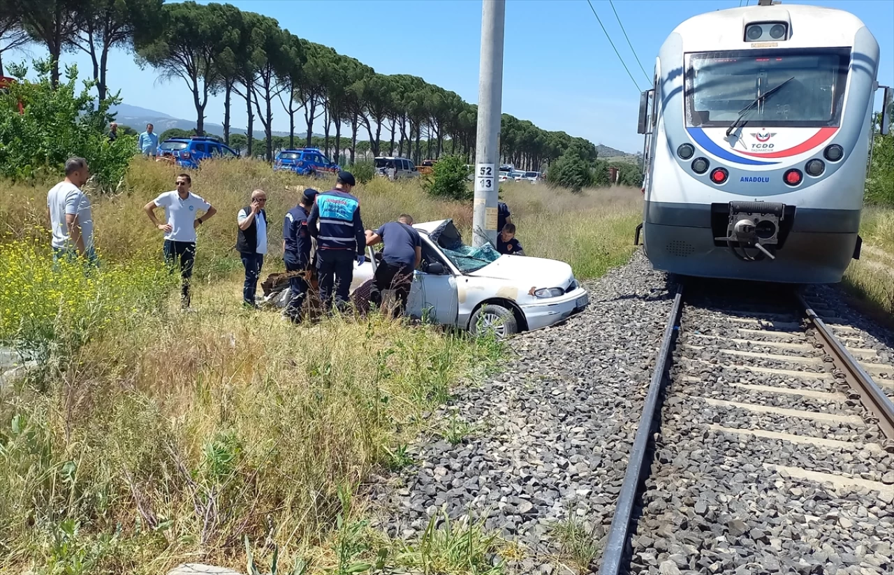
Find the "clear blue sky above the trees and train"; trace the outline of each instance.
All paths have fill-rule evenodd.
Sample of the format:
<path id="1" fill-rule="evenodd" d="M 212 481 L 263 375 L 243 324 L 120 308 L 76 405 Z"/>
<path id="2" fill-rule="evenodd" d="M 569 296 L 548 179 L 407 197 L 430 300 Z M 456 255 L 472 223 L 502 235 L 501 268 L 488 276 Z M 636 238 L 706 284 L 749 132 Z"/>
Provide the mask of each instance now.
<path id="1" fill-rule="evenodd" d="M 756 4 L 756 0 L 748 0 Z M 231 0 L 242 10 L 274 17 L 301 38 L 325 44 L 381 73 L 409 73 L 451 89 L 468 102 L 478 95 L 481 2 L 478 0 Z M 740 0 L 614 0 L 631 43 L 651 74 L 668 33 L 690 16 L 738 7 Z M 784 2 L 783 4 L 794 4 Z M 848 10 L 864 21 L 881 46 L 881 84 L 894 84 L 894 2 L 890 0 L 803 0 Z M 647 80 L 630 52 L 605 0 L 596 12 L 628 63 L 639 89 Z M 40 55 L 32 48 L 32 55 Z M 10 60 L 15 58 L 11 57 Z M 89 70 L 86 55 L 63 62 Z M 140 70 L 129 52 L 109 58 L 109 83 L 124 102 L 194 119 L 182 80 L 158 80 Z M 562 130 L 613 148 L 637 151 L 638 90 L 605 38 L 586 0 L 508 0 L 503 63 L 502 111 L 545 130 Z M 881 90 L 876 108 L 880 107 Z M 246 116 L 238 103 L 232 125 Z M 223 98 L 213 98 L 207 122 L 223 122 Z M 259 127 L 256 123 L 256 127 Z M 315 126 L 315 131 L 322 131 Z M 288 130 L 288 117 L 274 111 L 274 129 Z"/>

